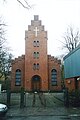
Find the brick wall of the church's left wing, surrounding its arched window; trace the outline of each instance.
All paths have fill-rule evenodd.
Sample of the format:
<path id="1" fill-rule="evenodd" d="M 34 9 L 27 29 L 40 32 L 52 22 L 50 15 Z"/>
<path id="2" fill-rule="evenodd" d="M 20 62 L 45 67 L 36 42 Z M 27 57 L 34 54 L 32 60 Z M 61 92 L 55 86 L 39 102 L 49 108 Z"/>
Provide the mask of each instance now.
<path id="1" fill-rule="evenodd" d="M 15 71 L 17 69 L 21 70 L 21 86 L 15 85 Z M 21 87 L 24 87 L 24 80 L 25 80 L 25 56 L 22 55 L 18 58 L 15 58 L 12 61 L 12 72 L 11 72 L 11 89 L 12 90 L 20 90 Z"/>

